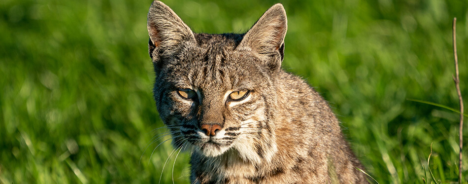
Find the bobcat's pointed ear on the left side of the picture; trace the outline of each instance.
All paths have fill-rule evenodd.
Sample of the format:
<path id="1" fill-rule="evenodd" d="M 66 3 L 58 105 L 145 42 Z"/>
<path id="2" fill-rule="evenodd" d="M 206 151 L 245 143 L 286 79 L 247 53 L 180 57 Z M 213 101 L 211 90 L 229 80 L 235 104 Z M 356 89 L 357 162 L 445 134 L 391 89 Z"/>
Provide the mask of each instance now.
<path id="1" fill-rule="evenodd" d="M 195 41 L 195 36 L 182 19 L 166 4 L 155 0 L 148 12 L 149 55 L 156 63 L 161 56 L 174 54 L 181 44 Z"/>

